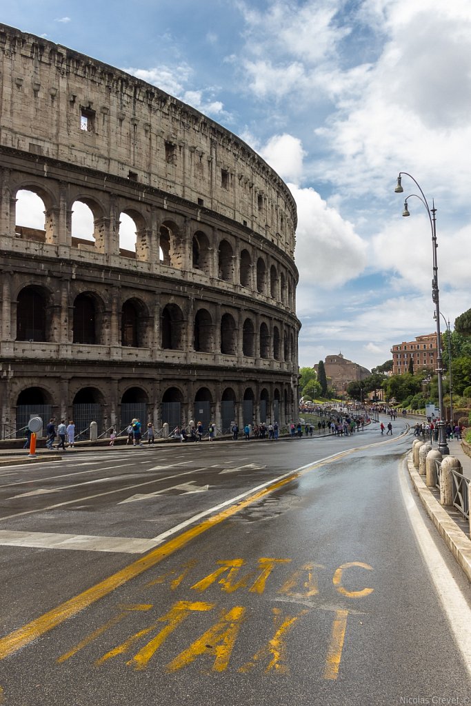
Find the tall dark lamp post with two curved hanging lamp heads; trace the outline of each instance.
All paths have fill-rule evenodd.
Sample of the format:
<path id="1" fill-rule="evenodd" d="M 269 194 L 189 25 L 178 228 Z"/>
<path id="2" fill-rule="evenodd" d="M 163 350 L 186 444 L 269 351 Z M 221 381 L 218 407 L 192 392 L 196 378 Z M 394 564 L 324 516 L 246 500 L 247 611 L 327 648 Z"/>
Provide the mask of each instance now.
<path id="1" fill-rule="evenodd" d="M 435 304 L 435 319 L 436 319 L 436 376 L 437 380 L 439 383 L 439 414 L 440 414 L 440 419 L 437 422 L 437 426 L 439 427 L 439 451 L 442 455 L 446 455 L 450 453 L 450 449 L 448 448 L 448 444 L 446 443 L 446 431 L 445 431 L 445 420 L 443 419 L 444 414 L 443 414 L 443 369 L 442 369 L 442 358 L 441 358 L 441 335 L 440 335 L 440 302 L 439 302 L 439 265 L 437 264 L 437 259 L 436 259 L 436 208 L 435 208 L 435 203 L 432 201 L 432 206 L 431 208 L 429 207 L 429 203 L 427 202 L 427 198 L 425 198 L 425 194 L 420 188 L 420 185 L 415 181 L 414 177 L 412 177 L 411 174 L 408 174 L 407 172 L 399 172 L 398 176 L 398 184 L 396 185 L 394 191 L 395 193 L 403 193 L 404 189 L 403 186 L 401 185 L 401 179 L 403 174 L 406 177 L 409 177 L 412 179 L 414 182 L 415 186 L 417 186 L 417 189 L 419 189 L 421 196 L 419 196 L 417 193 L 411 193 L 407 198 L 405 199 L 404 202 L 404 210 L 403 210 L 403 216 L 409 216 L 409 209 L 407 208 L 407 201 L 408 199 L 412 198 L 414 196 L 415 198 L 418 198 L 419 201 L 422 201 L 422 204 L 425 206 L 427 209 L 427 214 L 429 215 L 429 221 L 430 221 L 430 227 L 431 227 L 431 244 L 432 244 L 432 255 L 433 255 L 433 263 L 434 263 L 434 276 L 433 279 L 431 280 L 431 299 Z"/>

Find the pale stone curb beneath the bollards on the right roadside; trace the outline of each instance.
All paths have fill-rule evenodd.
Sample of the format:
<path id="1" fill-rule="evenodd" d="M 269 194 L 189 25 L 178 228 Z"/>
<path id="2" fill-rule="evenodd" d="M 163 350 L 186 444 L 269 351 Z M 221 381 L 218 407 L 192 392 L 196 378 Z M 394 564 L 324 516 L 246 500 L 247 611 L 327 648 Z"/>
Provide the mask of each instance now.
<path id="1" fill-rule="evenodd" d="M 451 550 L 458 564 L 471 581 L 471 539 L 461 530 L 446 510 L 434 498 L 433 493 L 419 476 L 412 463 L 412 452 L 407 455 L 407 469 L 415 491 L 435 527 L 439 530 L 446 545 Z"/>

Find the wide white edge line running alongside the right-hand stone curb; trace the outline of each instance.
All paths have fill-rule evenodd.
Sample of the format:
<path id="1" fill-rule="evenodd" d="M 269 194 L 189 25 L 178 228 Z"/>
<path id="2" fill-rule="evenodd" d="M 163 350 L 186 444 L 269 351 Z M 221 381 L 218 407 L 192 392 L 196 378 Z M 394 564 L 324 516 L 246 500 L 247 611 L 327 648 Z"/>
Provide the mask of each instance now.
<path id="1" fill-rule="evenodd" d="M 407 484 L 405 464 L 399 465 L 399 483 L 403 493 L 403 500 L 410 515 L 412 529 L 417 537 L 417 542 L 424 556 L 424 561 L 429 568 L 429 573 L 434 582 L 436 592 L 439 594 L 443 610 L 451 625 L 455 642 L 463 655 L 467 671 L 471 676 L 471 608 L 467 604 L 463 592 L 453 578 L 451 571 L 446 566 L 443 557 L 433 539 L 433 534 L 425 525 L 424 519 L 417 508 L 414 496 Z M 438 537 L 438 534 L 437 534 Z M 448 551 L 448 550 L 447 550 Z"/>

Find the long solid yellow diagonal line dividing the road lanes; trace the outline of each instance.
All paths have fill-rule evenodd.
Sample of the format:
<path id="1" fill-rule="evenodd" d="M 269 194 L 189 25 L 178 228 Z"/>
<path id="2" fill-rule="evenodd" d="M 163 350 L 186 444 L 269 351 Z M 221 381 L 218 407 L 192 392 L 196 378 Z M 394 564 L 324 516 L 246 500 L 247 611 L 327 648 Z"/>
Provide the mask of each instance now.
<path id="1" fill-rule="evenodd" d="M 374 446 L 376 444 L 371 445 Z M 59 604 L 59 606 L 47 611 L 47 613 L 44 613 L 42 616 L 34 618 L 24 626 L 18 628 L 17 630 L 13 630 L 13 632 L 8 635 L 5 635 L 4 638 L 0 638 L 0 659 L 9 657 L 22 647 L 25 647 L 25 645 L 29 645 L 30 642 L 33 642 L 37 638 L 40 638 L 41 635 L 44 635 L 49 632 L 49 630 L 52 630 L 52 628 L 56 628 L 56 626 L 59 626 L 68 618 L 76 616 L 85 608 L 88 608 L 88 606 L 109 595 L 131 579 L 136 578 L 144 571 L 153 568 L 153 566 L 156 566 L 156 564 L 160 563 L 160 561 L 163 561 L 174 554 L 175 551 L 183 549 L 184 546 L 189 544 L 189 542 L 196 537 L 199 537 L 200 534 L 203 534 L 203 532 L 210 530 L 212 527 L 215 527 L 221 522 L 224 522 L 224 520 L 227 520 L 228 517 L 232 517 L 232 515 L 244 510 L 244 508 L 248 505 L 256 503 L 258 500 L 261 500 L 261 498 L 264 498 L 270 493 L 284 487 L 302 475 L 311 472 L 311 470 L 338 461 L 345 455 L 350 455 L 358 450 L 361 450 L 362 448 L 368 447 L 369 445 L 365 445 L 364 447 L 347 449 L 339 454 L 333 455 L 328 459 L 314 462 L 313 464 L 304 467 L 304 469 L 294 471 L 281 480 L 278 480 L 253 495 L 246 497 L 244 500 L 241 500 L 234 505 L 230 505 L 228 508 L 221 510 L 212 517 L 208 517 L 208 520 L 204 520 L 204 522 L 201 522 L 199 525 L 191 527 L 189 530 L 179 534 L 177 537 L 169 539 L 169 541 L 165 544 L 156 547 L 153 551 L 150 551 L 148 554 L 145 554 L 145 556 L 138 558 L 136 561 L 129 564 L 129 566 L 122 568 L 117 571 L 117 573 L 114 573 L 95 584 L 95 586 L 88 588 L 64 603 Z"/>

